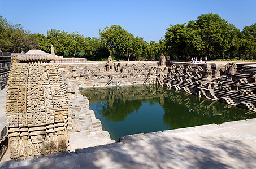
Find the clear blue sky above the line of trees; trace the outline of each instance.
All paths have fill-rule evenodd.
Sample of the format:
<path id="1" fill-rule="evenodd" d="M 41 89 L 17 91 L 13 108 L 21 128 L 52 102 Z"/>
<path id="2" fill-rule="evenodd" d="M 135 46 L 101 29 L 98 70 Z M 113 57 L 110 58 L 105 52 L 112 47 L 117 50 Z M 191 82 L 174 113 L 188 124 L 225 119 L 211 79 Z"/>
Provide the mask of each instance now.
<path id="1" fill-rule="evenodd" d="M 79 31 L 99 37 L 99 29 L 121 25 L 129 33 L 159 41 L 170 24 L 188 23 L 214 13 L 242 30 L 256 23 L 256 1 L 76 1 L 0 0 L 0 15 L 32 33 L 47 30 Z"/>

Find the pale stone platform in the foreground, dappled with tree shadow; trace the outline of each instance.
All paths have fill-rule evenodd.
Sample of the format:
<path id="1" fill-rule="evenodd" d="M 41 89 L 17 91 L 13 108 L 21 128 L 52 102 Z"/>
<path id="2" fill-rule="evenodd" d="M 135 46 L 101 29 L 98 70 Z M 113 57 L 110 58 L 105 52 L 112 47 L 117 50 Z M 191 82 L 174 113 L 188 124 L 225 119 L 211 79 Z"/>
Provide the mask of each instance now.
<path id="1" fill-rule="evenodd" d="M 136 134 L 0 168 L 256 168 L 256 119 Z"/>

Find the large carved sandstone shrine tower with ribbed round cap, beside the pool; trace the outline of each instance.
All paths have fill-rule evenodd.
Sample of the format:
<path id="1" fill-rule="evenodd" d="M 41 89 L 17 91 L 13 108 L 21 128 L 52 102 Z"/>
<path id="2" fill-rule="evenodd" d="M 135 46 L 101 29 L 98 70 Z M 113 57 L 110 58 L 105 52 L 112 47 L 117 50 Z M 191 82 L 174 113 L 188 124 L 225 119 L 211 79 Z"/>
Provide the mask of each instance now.
<path id="1" fill-rule="evenodd" d="M 67 150 L 66 90 L 53 55 L 30 50 L 11 66 L 6 123 L 12 159 Z"/>

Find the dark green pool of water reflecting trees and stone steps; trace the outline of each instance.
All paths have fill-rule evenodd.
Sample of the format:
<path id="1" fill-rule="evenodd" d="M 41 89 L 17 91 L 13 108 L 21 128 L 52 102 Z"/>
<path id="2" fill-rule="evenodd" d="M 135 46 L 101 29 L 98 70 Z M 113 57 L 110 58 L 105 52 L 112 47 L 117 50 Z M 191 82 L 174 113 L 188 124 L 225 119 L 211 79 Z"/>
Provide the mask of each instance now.
<path id="1" fill-rule="evenodd" d="M 256 118 L 244 109 L 163 86 L 120 86 L 81 90 L 112 138 L 139 132 Z"/>

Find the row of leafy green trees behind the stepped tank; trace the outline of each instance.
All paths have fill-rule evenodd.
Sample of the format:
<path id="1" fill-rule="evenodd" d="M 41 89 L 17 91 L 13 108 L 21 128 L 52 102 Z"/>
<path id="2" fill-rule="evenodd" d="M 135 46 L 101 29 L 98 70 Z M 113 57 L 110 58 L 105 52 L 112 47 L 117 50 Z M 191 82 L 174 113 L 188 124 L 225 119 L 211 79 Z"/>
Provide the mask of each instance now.
<path id="1" fill-rule="evenodd" d="M 99 30 L 99 38 L 79 32 L 50 29 L 47 34 L 24 30 L 0 16 L 0 49 L 27 52 L 38 48 L 45 52 L 54 46 L 55 54 L 86 57 L 88 60 L 158 60 L 161 54 L 171 60 L 256 59 L 256 23 L 240 30 L 217 14 L 202 14 L 197 20 L 170 25 L 159 42 L 134 36 L 120 25 Z"/>

